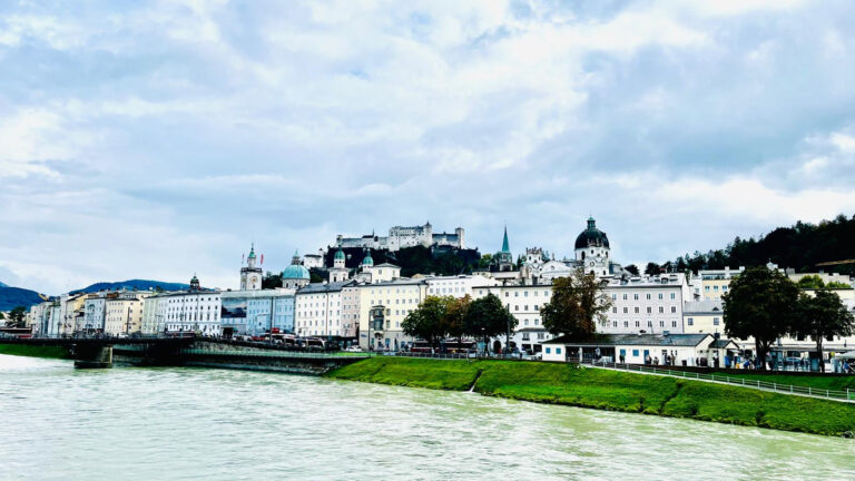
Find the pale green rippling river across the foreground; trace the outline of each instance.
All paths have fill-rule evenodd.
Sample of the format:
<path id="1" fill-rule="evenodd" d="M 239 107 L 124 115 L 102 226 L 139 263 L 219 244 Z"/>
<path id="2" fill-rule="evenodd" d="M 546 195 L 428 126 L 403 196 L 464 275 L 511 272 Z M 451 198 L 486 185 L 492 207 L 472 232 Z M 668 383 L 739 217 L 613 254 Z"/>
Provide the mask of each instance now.
<path id="1" fill-rule="evenodd" d="M 0 480 L 855 479 L 855 441 L 202 369 L 0 355 Z"/>

